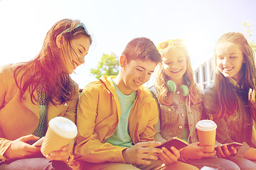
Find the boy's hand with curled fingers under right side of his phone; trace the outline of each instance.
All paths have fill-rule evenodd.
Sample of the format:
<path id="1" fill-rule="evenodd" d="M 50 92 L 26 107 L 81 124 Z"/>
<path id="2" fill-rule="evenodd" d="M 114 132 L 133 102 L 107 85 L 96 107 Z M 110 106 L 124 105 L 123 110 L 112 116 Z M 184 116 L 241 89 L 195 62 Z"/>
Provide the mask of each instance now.
<path id="1" fill-rule="evenodd" d="M 164 164 L 172 164 L 174 162 L 178 161 L 178 158 L 180 157 L 180 153 L 178 149 L 175 147 L 171 147 L 172 153 L 169 151 L 169 149 L 166 149 L 166 147 L 161 148 L 163 152 L 158 154 L 159 159 L 161 159 L 161 162 Z"/>

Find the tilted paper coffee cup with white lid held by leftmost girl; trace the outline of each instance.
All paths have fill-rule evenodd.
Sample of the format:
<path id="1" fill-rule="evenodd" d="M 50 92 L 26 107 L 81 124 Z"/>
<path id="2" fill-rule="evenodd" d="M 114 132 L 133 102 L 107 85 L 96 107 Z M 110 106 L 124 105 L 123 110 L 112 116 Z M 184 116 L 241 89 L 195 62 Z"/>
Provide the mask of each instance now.
<path id="1" fill-rule="evenodd" d="M 68 118 L 56 117 L 49 121 L 49 127 L 41 146 L 41 152 L 46 157 L 50 152 L 58 151 L 68 145 L 78 134 L 78 128 Z"/>

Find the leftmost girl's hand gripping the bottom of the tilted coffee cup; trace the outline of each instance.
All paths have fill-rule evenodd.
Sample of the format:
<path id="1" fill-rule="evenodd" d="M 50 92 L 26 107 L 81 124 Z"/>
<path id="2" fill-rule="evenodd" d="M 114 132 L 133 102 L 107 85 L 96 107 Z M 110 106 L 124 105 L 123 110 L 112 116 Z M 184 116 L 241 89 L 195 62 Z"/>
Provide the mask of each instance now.
<path id="1" fill-rule="evenodd" d="M 71 152 L 71 146 L 66 145 L 59 151 L 50 152 L 50 154 L 46 155 L 47 159 L 53 159 L 56 161 L 67 161 Z"/>

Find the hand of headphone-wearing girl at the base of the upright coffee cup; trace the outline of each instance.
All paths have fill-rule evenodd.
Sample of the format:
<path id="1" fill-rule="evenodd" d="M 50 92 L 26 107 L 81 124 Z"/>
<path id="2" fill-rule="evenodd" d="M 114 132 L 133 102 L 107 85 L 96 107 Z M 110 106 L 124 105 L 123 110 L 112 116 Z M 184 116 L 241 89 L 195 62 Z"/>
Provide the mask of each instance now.
<path id="1" fill-rule="evenodd" d="M 205 157 L 215 157 L 216 152 L 207 153 L 206 151 L 210 146 L 200 147 L 199 142 L 194 142 L 187 147 L 185 147 L 185 155 L 183 155 L 186 159 L 202 159 Z"/>

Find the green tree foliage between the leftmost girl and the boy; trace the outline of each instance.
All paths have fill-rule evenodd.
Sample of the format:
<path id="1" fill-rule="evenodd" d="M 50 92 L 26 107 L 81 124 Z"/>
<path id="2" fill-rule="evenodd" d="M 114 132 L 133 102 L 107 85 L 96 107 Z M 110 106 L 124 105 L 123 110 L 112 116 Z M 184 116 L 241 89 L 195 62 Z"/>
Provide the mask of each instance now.
<path id="1" fill-rule="evenodd" d="M 90 69 L 90 73 L 95 75 L 96 79 L 102 76 L 117 75 L 119 72 L 119 60 L 114 53 L 111 55 L 102 55 L 100 62 L 97 64 L 97 69 Z"/>

